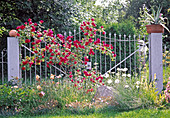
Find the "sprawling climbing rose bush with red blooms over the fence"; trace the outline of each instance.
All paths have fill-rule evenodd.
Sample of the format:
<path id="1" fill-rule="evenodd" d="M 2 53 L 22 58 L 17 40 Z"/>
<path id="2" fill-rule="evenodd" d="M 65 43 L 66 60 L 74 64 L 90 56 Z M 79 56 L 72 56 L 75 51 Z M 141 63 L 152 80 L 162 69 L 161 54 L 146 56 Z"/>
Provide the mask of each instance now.
<path id="1" fill-rule="evenodd" d="M 96 84 L 104 84 L 103 77 L 96 71 L 97 69 L 86 69 L 89 56 L 93 56 L 95 50 L 109 55 L 112 60 L 116 57 L 111 44 L 106 44 L 99 38 L 94 39 L 98 32 L 105 34 L 103 26 L 96 29 L 93 18 L 91 21 L 84 21 L 80 26 L 84 38 L 76 40 L 74 36 L 55 35 L 52 29 L 44 30 L 43 22 L 41 20 L 39 23 L 33 23 L 31 19 L 28 19 L 28 22 L 16 28 L 20 45 L 31 44 L 29 50 L 32 55 L 31 57 L 26 56 L 22 60 L 22 70 L 28 70 L 34 64 L 40 65 L 43 62 L 48 68 L 52 65 L 60 66 L 60 71 L 66 78 L 70 78 L 74 87 L 77 87 L 78 90 L 84 88 L 86 93 L 92 92 L 92 87 Z M 45 46 L 41 45 L 43 43 Z M 87 83 L 91 86 L 85 87 L 84 85 Z"/>

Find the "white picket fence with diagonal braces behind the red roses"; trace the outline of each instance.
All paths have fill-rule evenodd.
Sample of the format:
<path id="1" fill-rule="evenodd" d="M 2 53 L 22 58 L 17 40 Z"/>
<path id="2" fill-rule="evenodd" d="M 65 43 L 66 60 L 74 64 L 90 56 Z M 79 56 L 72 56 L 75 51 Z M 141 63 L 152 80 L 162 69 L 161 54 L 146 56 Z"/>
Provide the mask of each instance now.
<path id="1" fill-rule="evenodd" d="M 84 38 L 82 33 L 79 31 L 76 33 L 76 30 L 74 30 L 74 33 L 64 33 L 64 36 L 66 37 L 68 35 L 73 35 L 74 40 L 81 40 Z M 114 51 L 116 52 L 116 58 L 115 61 L 112 61 L 107 55 L 102 54 L 99 51 L 95 51 L 94 57 L 90 57 L 90 62 L 88 63 L 90 68 L 94 68 L 94 63 L 98 63 L 98 71 L 101 74 L 105 74 L 108 71 L 117 72 L 117 68 L 128 68 L 127 74 L 133 75 L 135 78 L 141 76 L 141 71 L 144 70 L 145 64 L 149 63 L 149 51 L 147 47 L 149 47 L 148 43 L 146 43 L 149 38 L 146 36 L 126 36 L 126 35 L 116 35 L 111 34 L 109 35 L 105 34 L 104 36 L 101 36 L 101 33 L 99 35 L 95 35 L 94 40 L 96 41 L 97 38 L 99 38 L 101 41 L 105 41 L 108 44 L 112 44 L 114 46 Z M 11 39 L 9 39 L 11 40 Z M 16 40 L 17 41 L 17 40 Z M 15 42 L 16 42 L 15 41 Z M 13 43 L 12 43 L 13 45 Z M 41 44 L 41 47 L 46 46 L 46 42 Z M 11 48 L 11 46 L 10 46 Z M 28 45 L 22 45 L 22 47 L 19 47 L 20 53 L 20 62 L 21 60 L 29 56 L 31 57 L 33 54 L 30 50 L 31 43 Z M 149 47 L 150 48 L 150 47 Z M 13 49 L 12 49 L 13 50 Z M 166 47 L 163 48 L 163 51 L 166 51 Z M 5 54 L 4 54 L 5 53 Z M 166 55 L 164 56 L 164 66 L 167 67 L 167 61 L 169 52 L 166 52 Z M 4 84 L 8 78 L 7 78 L 7 57 L 6 56 L 6 50 L 3 50 L 1 52 L 1 69 L 2 72 L 1 77 L 2 81 L 1 83 Z M 46 55 L 45 55 L 46 56 Z M 168 58 L 167 58 L 168 57 Z M 11 57 L 12 58 L 12 57 Z M 4 61 L 5 59 L 5 61 Z M 4 66 L 6 64 L 6 66 Z M 5 70 L 6 69 L 6 70 Z M 24 79 L 25 83 L 32 83 L 35 81 L 35 76 L 38 74 L 41 78 L 47 79 L 51 74 L 59 75 L 62 74 L 66 68 L 61 68 L 58 65 L 53 65 L 49 69 L 46 67 L 46 63 L 40 63 L 40 65 L 34 65 L 29 71 L 21 71 L 20 70 L 20 76 Z M 136 74 L 137 73 L 137 74 Z M 167 72 L 165 72 L 165 76 L 167 76 Z"/>

